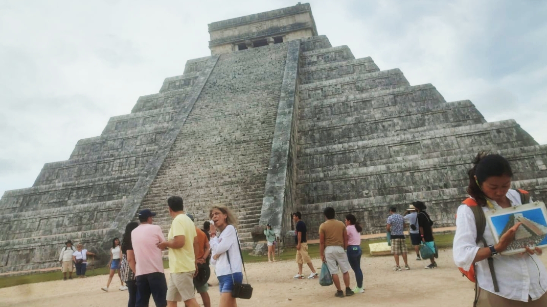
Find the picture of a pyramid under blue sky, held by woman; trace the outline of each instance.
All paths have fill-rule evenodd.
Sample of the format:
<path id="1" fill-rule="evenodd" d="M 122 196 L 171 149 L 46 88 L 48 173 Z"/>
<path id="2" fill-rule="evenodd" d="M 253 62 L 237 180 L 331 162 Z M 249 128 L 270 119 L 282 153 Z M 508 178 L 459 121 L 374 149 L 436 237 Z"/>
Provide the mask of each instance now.
<path id="1" fill-rule="evenodd" d="M 547 247 L 547 210 L 545 209 L 545 203 L 527 203 L 485 214 L 496 243 L 499 242 L 499 238 L 509 228 L 517 222 L 522 223 L 517 228 L 513 243 L 501 254 L 512 255 L 523 252 L 525 246 L 538 246 L 542 249 Z"/>

